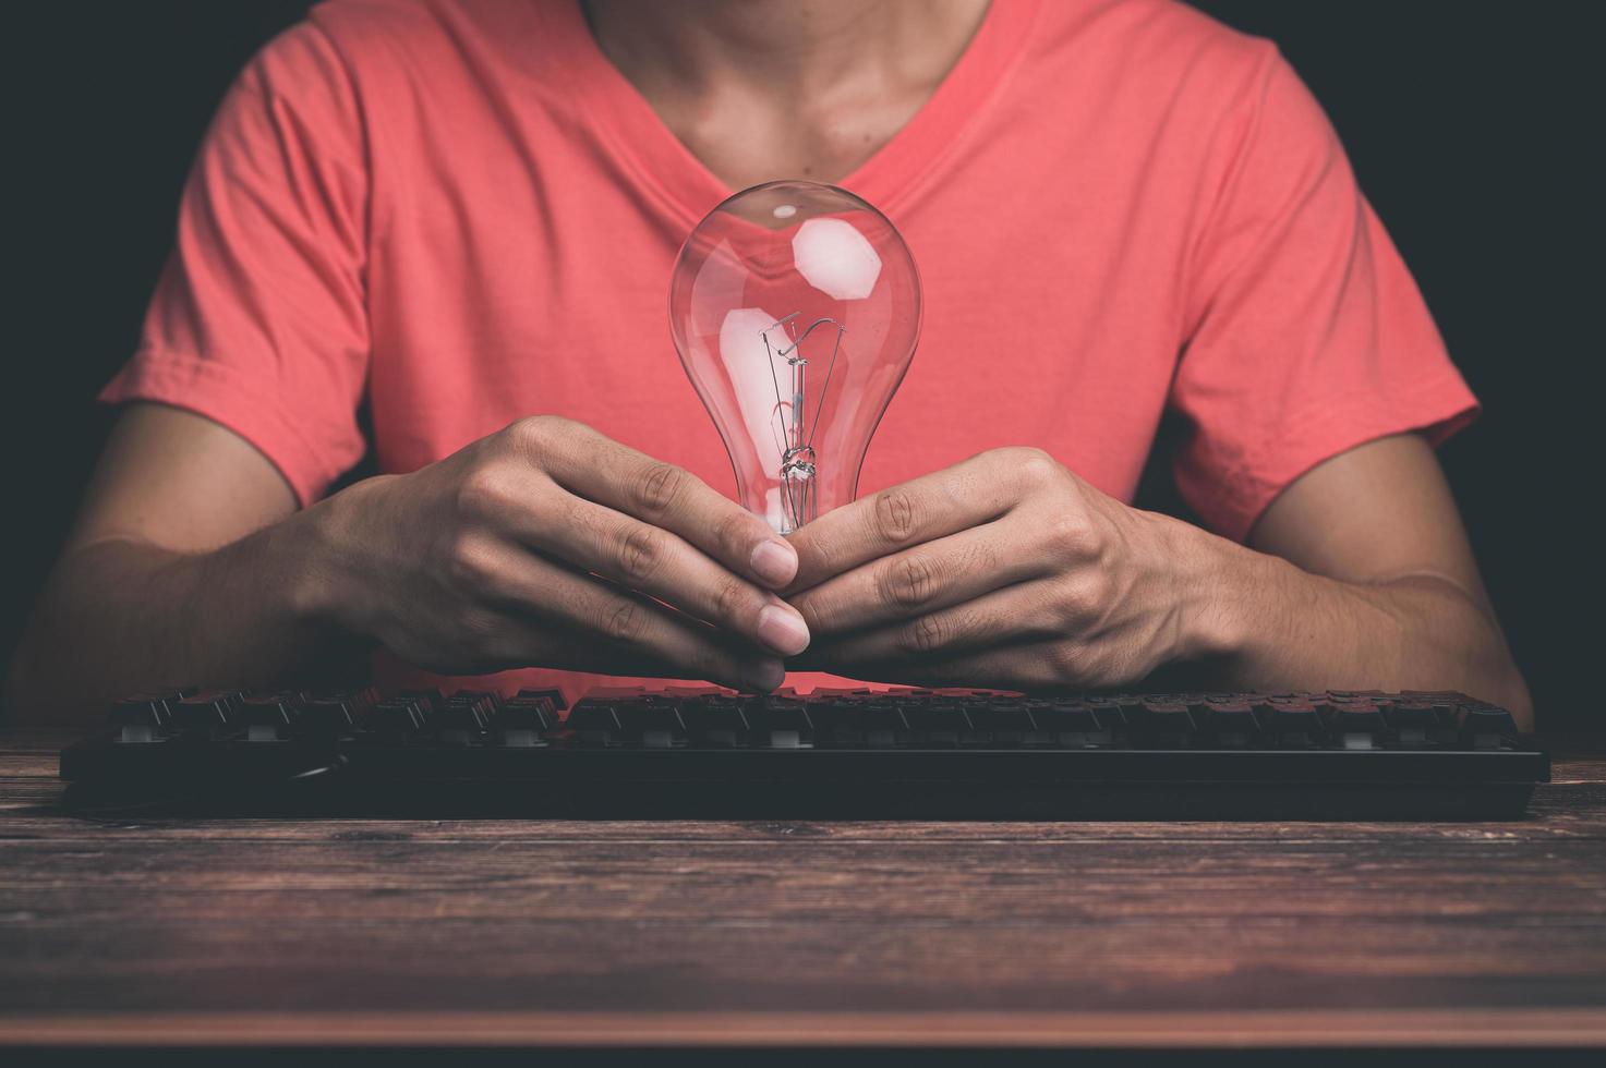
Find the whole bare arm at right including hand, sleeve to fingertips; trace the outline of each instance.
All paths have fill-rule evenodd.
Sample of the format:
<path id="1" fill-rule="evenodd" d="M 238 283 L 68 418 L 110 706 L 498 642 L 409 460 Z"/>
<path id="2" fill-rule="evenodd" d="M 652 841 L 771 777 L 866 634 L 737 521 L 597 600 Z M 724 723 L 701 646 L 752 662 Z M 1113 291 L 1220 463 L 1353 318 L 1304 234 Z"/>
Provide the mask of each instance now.
<path id="1" fill-rule="evenodd" d="M 1463 689 L 1532 708 L 1431 450 L 1352 448 L 1245 548 L 994 450 L 793 535 L 808 666 L 856 678 L 1111 687 L 1166 668 L 1240 687 Z"/>

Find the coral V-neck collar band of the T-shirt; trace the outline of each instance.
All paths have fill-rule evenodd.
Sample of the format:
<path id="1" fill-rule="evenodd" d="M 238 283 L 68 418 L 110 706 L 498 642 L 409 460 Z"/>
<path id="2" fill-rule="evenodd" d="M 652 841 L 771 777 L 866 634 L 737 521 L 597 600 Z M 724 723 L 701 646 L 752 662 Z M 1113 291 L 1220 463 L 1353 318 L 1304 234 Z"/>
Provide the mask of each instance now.
<path id="1" fill-rule="evenodd" d="M 1039 2 L 993 0 L 965 51 L 925 104 L 875 154 L 834 185 L 888 214 L 898 212 L 1004 85 L 1025 51 Z M 567 72 L 567 88 L 605 149 L 646 190 L 687 226 L 736 193 L 675 137 L 646 96 L 602 53 L 580 0 L 543 6 L 552 19 L 551 43 Z"/>

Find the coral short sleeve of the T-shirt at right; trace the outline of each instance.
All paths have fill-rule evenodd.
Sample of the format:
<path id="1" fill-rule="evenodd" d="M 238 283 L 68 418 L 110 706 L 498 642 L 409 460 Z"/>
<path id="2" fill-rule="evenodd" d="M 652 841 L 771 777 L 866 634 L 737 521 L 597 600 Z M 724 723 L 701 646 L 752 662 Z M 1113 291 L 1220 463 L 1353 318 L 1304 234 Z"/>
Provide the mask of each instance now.
<path id="1" fill-rule="evenodd" d="M 1266 43 L 1188 271 L 1182 496 L 1245 540 L 1310 467 L 1478 411 L 1310 92 Z"/>

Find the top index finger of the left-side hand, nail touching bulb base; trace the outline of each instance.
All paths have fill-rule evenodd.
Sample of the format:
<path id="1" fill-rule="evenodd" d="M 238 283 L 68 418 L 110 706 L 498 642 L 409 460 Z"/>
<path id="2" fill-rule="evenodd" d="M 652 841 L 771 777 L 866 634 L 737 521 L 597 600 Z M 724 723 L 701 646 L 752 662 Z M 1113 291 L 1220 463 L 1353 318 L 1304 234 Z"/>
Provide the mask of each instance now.
<path id="1" fill-rule="evenodd" d="M 638 453 L 580 422 L 562 432 L 532 421 L 541 466 L 565 490 L 679 535 L 710 557 L 779 589 L 797 575 L 797 551 L 758 516 L 697 475 Z"/>

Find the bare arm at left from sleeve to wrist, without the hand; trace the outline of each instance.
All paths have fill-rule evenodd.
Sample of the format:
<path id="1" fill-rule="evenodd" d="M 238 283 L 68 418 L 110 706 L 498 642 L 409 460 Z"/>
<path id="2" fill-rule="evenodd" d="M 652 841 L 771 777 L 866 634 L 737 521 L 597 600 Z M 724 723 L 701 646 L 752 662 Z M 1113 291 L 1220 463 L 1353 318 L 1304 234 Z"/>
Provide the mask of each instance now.
<path id="1" fill-rule="evenodd" d="M 241 437 L 132 405 L 10 665 L 8 713 L 305 668 L 328 641 L 297 565 L 315 525 Z"/>

